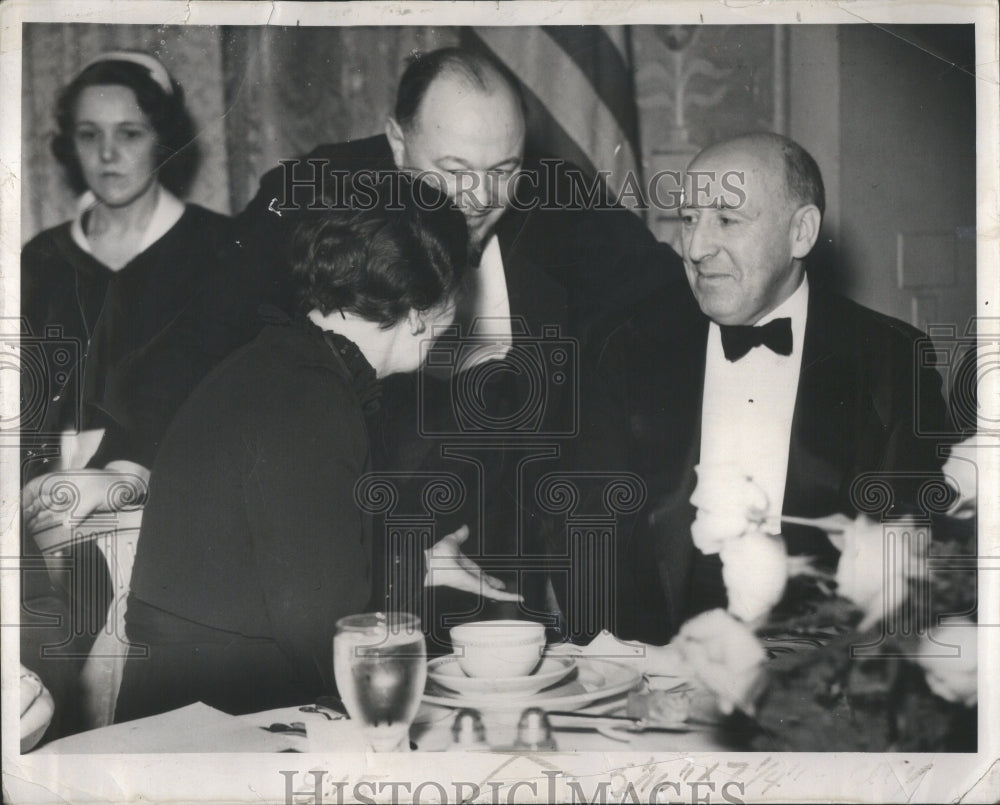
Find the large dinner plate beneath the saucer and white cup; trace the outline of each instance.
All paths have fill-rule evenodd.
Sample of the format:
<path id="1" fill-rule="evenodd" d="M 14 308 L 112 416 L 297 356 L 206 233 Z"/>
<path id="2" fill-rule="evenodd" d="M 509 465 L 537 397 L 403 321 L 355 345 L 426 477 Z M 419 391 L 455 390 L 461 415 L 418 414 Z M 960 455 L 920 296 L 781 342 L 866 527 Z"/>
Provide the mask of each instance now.
<path id="1" fill-rule="evenodd" d="M 642 675 L 610 660 L 578 657 L 573 671 L 559 682 L 535 693 L 498 696 L 495 693 L 465 693 L 449 690 L 428 678 L 424 701 L 444 707 L 474 707 L 478 710 L 575 710 L 617 696 L 639 684 Z"/>

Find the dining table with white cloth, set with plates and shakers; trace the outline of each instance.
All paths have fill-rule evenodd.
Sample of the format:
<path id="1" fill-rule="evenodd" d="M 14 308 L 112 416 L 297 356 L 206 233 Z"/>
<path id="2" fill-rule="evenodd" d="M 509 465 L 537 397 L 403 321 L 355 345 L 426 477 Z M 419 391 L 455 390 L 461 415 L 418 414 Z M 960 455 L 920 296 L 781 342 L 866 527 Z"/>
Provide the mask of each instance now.
<path id="1" fill-rule="evenodd" d="M 696 692 L 691 680 L 651 675 L 641 648 L 610 636 L 589 647 L 550 647 L 547 656 L 575 664 L 562 685 L 528 695 L 462 696 L 430 680 L 410 727 L 417 752 L 686 752 L 720 751 L 711 721 L 669 723 L 631 718 L 630 694 L 653 689 Z M 667 669 L 669 671 L 669 669 Z M 608 695 L 603 695 L 603 694 Z M 230 715 L 202 702 L 134 721 L 78 733 L 37 748 L 35 754 L 357 752 L 364 737 L 336 704 L 316 702 Z M 335 701 L 335 700 L 334 700 Z M 634 701 L 634 699 L 633 699 Z M 524 734 L 525 711 L 545 714 L 544 736 Z M 461 719 L 464 717 L 464 721 Z M 470 719 L 475 734 L 464 732 Z M 405 748 L 405 747 L 404 747 Z"/>

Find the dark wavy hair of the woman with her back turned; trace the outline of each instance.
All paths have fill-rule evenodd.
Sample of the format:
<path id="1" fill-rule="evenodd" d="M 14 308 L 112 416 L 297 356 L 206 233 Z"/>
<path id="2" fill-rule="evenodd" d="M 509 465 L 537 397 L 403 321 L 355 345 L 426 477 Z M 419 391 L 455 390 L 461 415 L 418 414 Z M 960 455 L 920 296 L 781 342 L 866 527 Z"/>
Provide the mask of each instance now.
<path id="1" fill-rule="evenodd" d="M 458 288 L 468 259 L 465 218 L 450 199 L 402 173 L 310 213 L 291 243 L 302 312 L 350 311 L 384 328 Z"/>

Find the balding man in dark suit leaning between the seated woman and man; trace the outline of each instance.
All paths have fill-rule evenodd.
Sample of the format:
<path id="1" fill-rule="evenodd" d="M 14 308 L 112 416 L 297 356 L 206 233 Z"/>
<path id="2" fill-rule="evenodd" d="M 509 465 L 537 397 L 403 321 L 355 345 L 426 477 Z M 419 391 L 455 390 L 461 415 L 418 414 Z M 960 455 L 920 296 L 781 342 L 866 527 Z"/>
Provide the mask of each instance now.
<path id="1" fill-rule="evenodd" d="M 680 258 L 637 216 L 616 205 L 606 189 L 589 197 L 586 189 L 574 193 L 577 169 L 556 160 L 543 164 L 541 155 L 527 153 L 526 133 L 519 88 L 501 65 L 462 49 L 434 51 L 409 63 L 384 134 L 321 145 L 278 166 L 264 176 L 240 223 L 244 250 L 257 261 L 258 284 L 283 305 L 285 243 L 310 207 L 370 201 L 369 178 L 383 171 L 412 171 L 445 187 L 465 214 L 475 255 L 457 300 L 462 338 L 453 342 L 450 363 L 447 351 L 439 353 L 444 361 L 429 361 L 451 377 L 425 377 L 421 385 L 403 375 L 383 384 L 376 464 L 410 474 L 457 473 L 466 499 L 455 512 L 438 516 L 436 527 L 444 533 L 467 525 L 470 555 L 493 557 L 490 567 L 524 593 L 530 609 L 551 612 L 545 574 L 520 572 L 518 557 L 534 554 L 537 568 L 545 547 L 538 542 L 533 496 L 516 487 L 517 468 L 531 449 L 525 445 L 549 445 L 546 460 L 532 466 L 554 469 L 551 446 L 562 450 L 578 424 L 579 370 L 564 342 L 575 347 L 609 311 L 656 288 L 672 284 L 683 291 L 685 283 Z M 463 351 L 476 322 L 485 346 Z M 515 342 L 529 346 L 518 351 Z M 476 380 L 456 380 L 474 365 Z M 482 447 L 484 437 L 492 439 L 491 447 Z M 478 446 L 464 449 L 470 443 Z M 441 456 L 445 444 L 452 451 L 447 459 Z M 422 479 L 396 483 L 395 514 L 419 513 Z"/>

